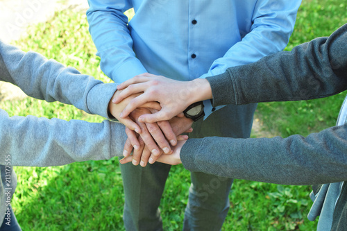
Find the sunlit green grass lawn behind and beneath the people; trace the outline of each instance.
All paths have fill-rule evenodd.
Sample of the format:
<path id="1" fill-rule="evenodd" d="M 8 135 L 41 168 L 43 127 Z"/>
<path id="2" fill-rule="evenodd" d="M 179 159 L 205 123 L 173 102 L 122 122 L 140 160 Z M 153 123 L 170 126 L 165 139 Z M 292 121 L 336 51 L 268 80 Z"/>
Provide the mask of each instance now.
<path id="1" fill-rule="evenodd" d="M 330 35 L 347 22 L 346 12 L 346 1 L 303 1 L 286 50 Z M 57 12 L 50 22 L 31 26 L 27 37 L 12 44 L 110 81 L 99 69 L 84 12 Z M 260 103 L 255 116 L 272 134 L 307 135 L 335 125 L 344 96 Z M 2 101 L 0 107 L 10 115 L 103 120 L 71 105 L 29 98 Z M 18 186 L 12 207 L 23 230 L 124 230 L 124 194 L 117 159 L 47 168 L 16 167 L 15 171 Z M 160 205 L 164 230 L 182 229 L 189 184 L 189 172 L 183 166 L 173 166 Z M 316 222 L 306 218 L 312 205 L 309 193 L 309 186 L 235 180 L 223 230 L 315 230 Z"/>

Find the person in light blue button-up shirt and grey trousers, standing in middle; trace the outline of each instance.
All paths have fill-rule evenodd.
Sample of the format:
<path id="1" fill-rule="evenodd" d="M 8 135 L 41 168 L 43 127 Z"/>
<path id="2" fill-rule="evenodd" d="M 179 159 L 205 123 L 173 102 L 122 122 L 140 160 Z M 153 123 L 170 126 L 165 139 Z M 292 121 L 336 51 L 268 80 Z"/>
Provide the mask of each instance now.
<path id="1" fill-rule="evenodd" d="M 246 65 L 282 51 L 293 31 L 301 1 L 89 0 L 88 3 L 87 19 L 97 55 L 101 57 L 101 69 L 119 83 L 146 72 L 175 80 L 206 78 L 222 74 L 228 67 Z M 135 15 L 128 22 L 124 12 L 130 8 L 134 8 Z M 186 114 L 189 118 L 172 129 L 189 128 L 198 119 L 193 124 L 192 137 L 249 137 L 256 104 L 214 108 L 210 101 L 204 101 L 203 106 L 192 106 L 203 108 L 203 119 L 199 119 L 201 110 L 198 117 Z M 169 128 L 162 128 L 160 123 L 138 120 L 147 113 L 143 110 L 130 113 L 142 131 L 140 146 L 134 145 L 133 164 L 121 165 L 126 230 L 162 230 L 158 206 L 170 166 L 153 162 L 162 151 L 170 153 L 169 143 L 175 145 L 176 141 L 165 135 Z M 126 133 L 129 138 L 135 137 L 133 130 Z M 206 185 L 214 180 L 221 182 L 220 187 L 207 189 Z M 183 229 L 220 230 L 229 209 L 231 185 L 232 179 L 193 172 Z"/>

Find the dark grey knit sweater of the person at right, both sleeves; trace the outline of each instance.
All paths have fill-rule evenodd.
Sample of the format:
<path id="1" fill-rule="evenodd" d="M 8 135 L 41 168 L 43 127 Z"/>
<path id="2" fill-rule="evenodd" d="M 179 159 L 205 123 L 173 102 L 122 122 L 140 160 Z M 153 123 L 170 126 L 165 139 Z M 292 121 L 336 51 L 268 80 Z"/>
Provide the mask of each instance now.
<path id="1" fill-rule="evenodd" d="M 347 24 L 330 37 L 317 38 L 291 52 L 270 55 L 207 79 L 214 106 L 337 94 L 347 89 Z M 307 137 L 191 139 L 180 157 L 190 171 L 230 178 L 286 185 L 343 182 L 347 181 L 347 124 Z M 339 191 L 332 230 L 347 230 L 346 182 Z"/>

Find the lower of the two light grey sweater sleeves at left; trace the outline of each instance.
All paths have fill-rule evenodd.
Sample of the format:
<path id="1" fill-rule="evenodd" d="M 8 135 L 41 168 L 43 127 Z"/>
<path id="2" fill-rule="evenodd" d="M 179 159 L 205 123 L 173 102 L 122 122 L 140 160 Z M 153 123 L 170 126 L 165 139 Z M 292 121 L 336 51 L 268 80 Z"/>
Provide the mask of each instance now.
<path id="1" fill-rule="evenodd" d="M 0 110 L 0 164 L 58 166 L 121 156 L 126 141 L 121 123 L 33 116 L 9 117 Z"/>

